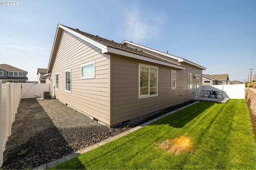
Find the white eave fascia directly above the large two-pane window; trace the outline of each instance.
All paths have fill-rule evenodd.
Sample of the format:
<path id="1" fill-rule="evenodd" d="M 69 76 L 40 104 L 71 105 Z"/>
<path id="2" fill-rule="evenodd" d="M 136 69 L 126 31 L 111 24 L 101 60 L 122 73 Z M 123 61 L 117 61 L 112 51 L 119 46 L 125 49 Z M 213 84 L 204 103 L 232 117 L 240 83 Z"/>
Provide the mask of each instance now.
<path id="1" fill-rule="evenodd" d="M 115 53 L 115 54 L 131 57 L 131 58 L 134 58 L 134 59 L 140 59 L 140 60 L 149 61 L 149 62 L 152 62 L 152 63 L 162 64 L 162 65 L 165 65 L 165 66 L 170 66 L 170 67 L 173 67 L 173 68 L 178 68 L 178 69 L 181 69 L 181 70 L 185 70 L 185 67 L 182 67 L 182 66 L 177 66 L 175 64 L 170 64 L 170 63 L 166 63 L 166 62 L 163 62 L 163 61 L 150 59 L 148 57 L 144 57 L 144 56 L 137 55 L 137 54 L 134 54 L 134 53 L 129 53 L 129 52 L 126 52 L 126 51 L 114 49 L 112 47 L 108 47 L 108 53 Z"/>

